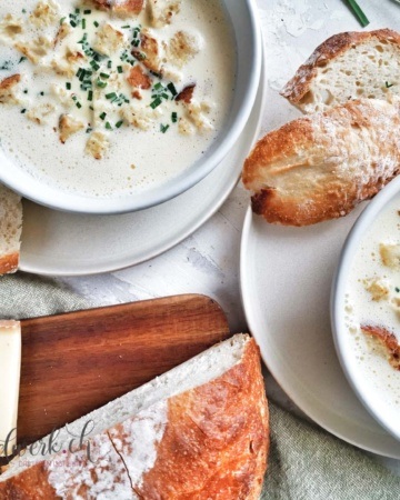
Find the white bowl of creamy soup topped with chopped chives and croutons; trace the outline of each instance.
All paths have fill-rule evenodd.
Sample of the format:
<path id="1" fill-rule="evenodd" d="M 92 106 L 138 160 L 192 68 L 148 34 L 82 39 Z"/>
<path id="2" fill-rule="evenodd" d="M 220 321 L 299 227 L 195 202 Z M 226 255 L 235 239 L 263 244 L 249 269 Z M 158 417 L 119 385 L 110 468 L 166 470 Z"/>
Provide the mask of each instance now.
<path id="1" fill-rule="evenodd" d="M 252 0 L 2 0 L 0 181 L 74 212 L 167 201 L 234 147 L 261 58 Z"/>

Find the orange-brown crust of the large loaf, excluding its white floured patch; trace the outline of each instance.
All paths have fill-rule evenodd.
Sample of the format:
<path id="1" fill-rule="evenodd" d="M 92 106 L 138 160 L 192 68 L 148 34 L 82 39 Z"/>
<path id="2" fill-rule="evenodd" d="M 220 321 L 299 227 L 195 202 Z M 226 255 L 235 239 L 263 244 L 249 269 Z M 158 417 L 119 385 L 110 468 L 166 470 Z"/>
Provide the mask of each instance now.
<path id="1" fill-rule="evenodd" d="M 269 414 L 256 342 L 247 341 L 240 362 L 221 377 L 168 400 L 168 421 L 157 460 L 138 483 L 129 474 L 129 457 L 123 456 L 130 444 L 123 429 L 119 424 L 100 437 L 103 441 L 110 438 L 116 452 L 111 450 L 116 481 L 123 482 L 124 488 L 129 484 L 132 499 L 258 499 L 267 469 Z M 93 443 L 96 439 L 100 438 L 94 437 Z M 71 468 L 76 467 L 73 453 L 59 457 L 70 459 Z M 78 459 L 88 467 L 84 453 Z M 127 474 L 121 472 L 123 466 Z M 96 469 L 92 477 L 96 481 Z M 79 493 L 82 499 L 93 498 L 83 486 Z M 69 494 L 68 489 L 62 497 L 57 494 L 46 462 L 0 482 L 0 500 L 73 498 Z"/>

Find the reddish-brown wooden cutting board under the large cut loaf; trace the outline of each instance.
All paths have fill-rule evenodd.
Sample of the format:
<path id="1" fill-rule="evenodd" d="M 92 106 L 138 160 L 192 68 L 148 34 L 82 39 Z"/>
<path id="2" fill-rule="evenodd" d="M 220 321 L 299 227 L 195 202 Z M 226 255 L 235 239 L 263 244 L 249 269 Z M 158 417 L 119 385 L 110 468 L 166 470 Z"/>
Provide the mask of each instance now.
<path id="1" fill-rule="evenodd" d="M 18 441 L 52 429 L 230 336 L 217 302 L 179 296 L 21 321 Z"/>

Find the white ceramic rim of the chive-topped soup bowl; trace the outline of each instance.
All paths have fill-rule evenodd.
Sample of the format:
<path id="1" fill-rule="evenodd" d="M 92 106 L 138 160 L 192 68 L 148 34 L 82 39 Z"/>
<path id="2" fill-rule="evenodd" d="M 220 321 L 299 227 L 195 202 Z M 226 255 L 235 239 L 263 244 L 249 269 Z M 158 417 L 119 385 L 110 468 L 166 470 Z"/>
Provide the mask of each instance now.
<path id="1" fill-rule="evenodd" d="M 143 194 L 94 198 L 84 194 L 66 192 L 34 179 L 28 172 L 12 163 L 0 151 L 0 179 L 6 186 L 23 197 L 58 210 L 78 213 L 124 213 L 142 210 L 168 201 L 197 184 L 210 173 L 232 149 L 250 117 L 256 101 L 261 77 L 262 38 L 257 17 L 254 0 L 224 0 L 228 12 L 236 13 L 234 34 L 237 40 L 237 90 L 233 96 L 231 113 L 226 131 L 222 131 L 216 143 L 198 162 L 171 179 L 166 184 L 149 189 Z M 233 21 L 232 21 L 233 22 Z"/>

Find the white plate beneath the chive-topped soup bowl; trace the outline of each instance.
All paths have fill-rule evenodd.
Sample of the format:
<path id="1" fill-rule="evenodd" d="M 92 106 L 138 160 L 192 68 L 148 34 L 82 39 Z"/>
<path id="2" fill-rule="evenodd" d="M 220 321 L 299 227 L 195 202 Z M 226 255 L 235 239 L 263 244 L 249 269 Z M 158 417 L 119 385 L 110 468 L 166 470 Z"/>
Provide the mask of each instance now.
<path id="1" fill-rule="evenodd" d="M 20 269 L 59 276 L 113 271 L 151 259 L 190 236 L 237 184 L 259 136 L 264 89 L 263 69 L 253 111 L 234 149 L 206 179 L 171 201 L 123 216 L 81 216 L 24 200 Z"/>

